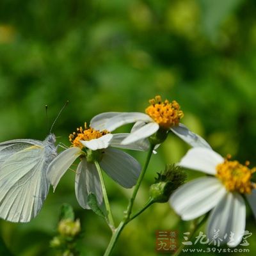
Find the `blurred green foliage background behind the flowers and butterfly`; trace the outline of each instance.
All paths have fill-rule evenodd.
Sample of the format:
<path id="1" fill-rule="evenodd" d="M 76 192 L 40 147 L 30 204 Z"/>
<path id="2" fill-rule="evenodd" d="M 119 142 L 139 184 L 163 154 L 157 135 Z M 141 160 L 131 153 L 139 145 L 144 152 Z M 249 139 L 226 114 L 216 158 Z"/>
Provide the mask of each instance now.
<path id="1" fill-rule="evenodd" d="M 68 145 L 68 134 L 94 115 L 144 111 L 148 99 L 159 94 L 180 103 L 182 122 L 214 150 L 255 166 L 255 13 L 256 2 L 243 0 L 1 0 L 0 140 L 44 140 L 45 104 L 51 125 L 69 100 L 53 129 L 61 136 L 58 142 Z M 135 209 L 147 200 L 156 172 L 179 161 L 188 148 L 168 137 L 152 158 Z M 145 161 L 145 152 L 131 154 Z M 106 181 L 117 223 L 131 189 Z M 81 219 L 81 255 L 102 255 L 111 234 L 103 220 L 77 204 L 71 171 L 54 194 L 51 189 L 35 220 L 0 221 L 0 254 L 8 255 L 6 244 L 13 255 L 55 255 L 49 241 L 63 202 Z M 188 225 L 168 204 L 153 205 L 129 223 L 113 255 L 157 255 L 156 230 L 178 230 L 181 242 Z M 250 211 L 246 228 L 253 232 L 249 254 L 255 255 Z"/>

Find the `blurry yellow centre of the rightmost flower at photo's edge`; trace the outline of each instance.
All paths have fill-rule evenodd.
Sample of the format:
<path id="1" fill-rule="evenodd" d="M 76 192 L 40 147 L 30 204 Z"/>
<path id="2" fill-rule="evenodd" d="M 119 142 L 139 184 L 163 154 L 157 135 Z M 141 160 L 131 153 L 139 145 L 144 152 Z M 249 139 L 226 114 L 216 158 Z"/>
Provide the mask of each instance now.
<path id="1" fill-rule="evenodd" d="M 230 159 L 230 156 L 227 158 Z M 242 194 L 252 193 L 256 184 L 251 179 L 256 168 L 248 168 L 248 161 L 243 165 L 238 161 L 228 161 L 228 159 L 216 166 L 216 177 L 223 182 L 228 191 L 237 191 Z"/>

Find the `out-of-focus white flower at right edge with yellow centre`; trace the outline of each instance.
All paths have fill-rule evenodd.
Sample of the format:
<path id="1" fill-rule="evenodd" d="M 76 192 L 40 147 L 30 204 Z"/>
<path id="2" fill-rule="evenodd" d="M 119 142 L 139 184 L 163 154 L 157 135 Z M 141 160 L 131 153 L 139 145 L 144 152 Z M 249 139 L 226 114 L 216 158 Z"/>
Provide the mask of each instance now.
<path id="1" fill-rule="evenodd" d="M 207 225 L 209 240 L 218 232 L 222 243 L 237 246 L 246 222 L 246 206 L 241 194 L 248 198 L 256 218 L 256 191 L 251 180 L 255 168 L 250 170 L 248 164 L 244 166 L 228 159 L 209 148 L 191 148 L 179 166 L 211 176 L 182 185 L 170 197 L 170 204 L 182 220 L 193 220 L 212 210 Z M 234 237 L 230 239 L 230 235 Z"/>

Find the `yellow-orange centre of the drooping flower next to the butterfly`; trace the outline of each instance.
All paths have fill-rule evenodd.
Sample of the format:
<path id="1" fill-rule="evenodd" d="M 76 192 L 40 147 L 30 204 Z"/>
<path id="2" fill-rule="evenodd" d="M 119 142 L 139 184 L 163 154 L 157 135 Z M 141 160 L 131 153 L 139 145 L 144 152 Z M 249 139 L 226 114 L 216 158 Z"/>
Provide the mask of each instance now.
<path id="1" fill-rule="evenodd" d="M 72 143 L 71 147 L 79 147 L 83 148 L 84 145 L 80 142 L 80 140 L 93 140 L 102 137 L 109 133 L 106 130 L 97 131 L 93 128 L 87 128 L 86 123 L 84 123 L 84 129 L 82 127 L 77 128 L 77 132 L 73 132 L 69 135 L 69 141 Z"/>

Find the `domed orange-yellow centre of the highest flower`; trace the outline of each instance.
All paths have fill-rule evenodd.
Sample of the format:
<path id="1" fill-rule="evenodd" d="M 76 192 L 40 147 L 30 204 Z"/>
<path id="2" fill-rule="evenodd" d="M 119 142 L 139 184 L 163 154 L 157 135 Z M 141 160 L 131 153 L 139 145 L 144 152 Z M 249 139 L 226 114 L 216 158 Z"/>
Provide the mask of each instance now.
<path id="1" fill-rule="evenodd" d="M 164 129 L 178 125 L 180 118 L 184 116 L 179 104 L 175 100 L 172 102 L 164 100 L 162 102 L 161 97 L 156 96 L 155 99 L 149 100 L 149 103 L 150 106 L 148 106 L 145 112 Z"/>

